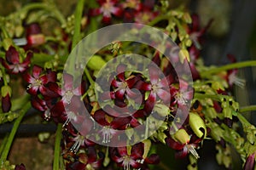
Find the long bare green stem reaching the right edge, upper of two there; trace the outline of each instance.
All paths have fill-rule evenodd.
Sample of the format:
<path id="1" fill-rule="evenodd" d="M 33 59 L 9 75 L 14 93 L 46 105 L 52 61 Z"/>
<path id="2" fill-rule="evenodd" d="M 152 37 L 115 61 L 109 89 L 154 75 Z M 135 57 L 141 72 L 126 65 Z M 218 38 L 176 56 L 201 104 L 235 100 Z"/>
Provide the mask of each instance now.
<path id="1" fill-rule="evenodd" d="M 240 69 L 240 68 L 247 67 L 247 66 L 256 66 L 256 60 L 242 61 L 242 62 L 232 63 L 229 65 L 223 65 L 223 66 L 211 68 L 208 71 L 202 71 L 200 74 L 201 74 L 201 77 L 207 77 L 207 76 L 216 74 L 221 71 Z"/>

